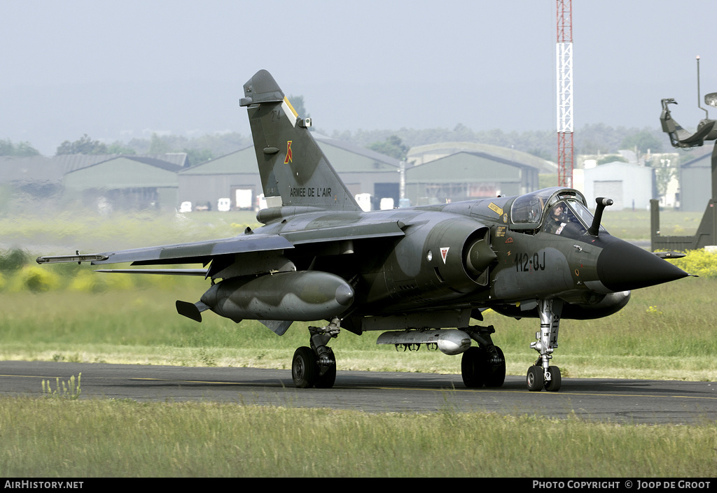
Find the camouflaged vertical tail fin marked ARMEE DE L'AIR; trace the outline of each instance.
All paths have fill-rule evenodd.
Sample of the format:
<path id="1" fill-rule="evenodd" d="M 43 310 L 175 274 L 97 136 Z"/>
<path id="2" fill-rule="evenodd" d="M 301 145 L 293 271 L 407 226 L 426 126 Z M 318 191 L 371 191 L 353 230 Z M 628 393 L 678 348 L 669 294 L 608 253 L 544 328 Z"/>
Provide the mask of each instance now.
<path id="1" fill-rule="evenodd" d="M 267 204 L 361 210 L 309 132 L 310 120 L 298 117 L 269 72 L 244 84 L 240 104 L 249 112 Z"/>

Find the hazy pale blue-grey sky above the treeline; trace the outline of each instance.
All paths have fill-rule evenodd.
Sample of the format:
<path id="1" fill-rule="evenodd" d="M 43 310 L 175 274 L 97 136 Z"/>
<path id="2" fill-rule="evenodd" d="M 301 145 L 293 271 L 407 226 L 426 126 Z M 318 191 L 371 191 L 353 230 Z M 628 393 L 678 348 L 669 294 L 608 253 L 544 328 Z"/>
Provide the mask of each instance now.
<path id="1" fill-rule="evenodd" d="M 574 120 L 685 127 L 717 91 L 714 0 L 574 0 Z M 249 133 L 267 69 L 315 128 L 556 128 L 554 0 L 2 0 L 0 138 Z M 717 116 L 713 109 L 711 116 Z"/>

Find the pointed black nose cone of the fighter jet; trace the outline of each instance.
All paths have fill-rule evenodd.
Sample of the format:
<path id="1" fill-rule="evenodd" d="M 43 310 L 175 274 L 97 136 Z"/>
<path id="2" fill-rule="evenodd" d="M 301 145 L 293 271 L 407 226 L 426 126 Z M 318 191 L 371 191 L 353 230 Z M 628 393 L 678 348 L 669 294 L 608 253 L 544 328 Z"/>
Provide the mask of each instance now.
<path id="1" fill-rule="evenodd" d="M 597 275 L 608 289 L 618 292 L 687 277 L 670 262 L 627 241 L 614 241 L 597 257 Z"/>

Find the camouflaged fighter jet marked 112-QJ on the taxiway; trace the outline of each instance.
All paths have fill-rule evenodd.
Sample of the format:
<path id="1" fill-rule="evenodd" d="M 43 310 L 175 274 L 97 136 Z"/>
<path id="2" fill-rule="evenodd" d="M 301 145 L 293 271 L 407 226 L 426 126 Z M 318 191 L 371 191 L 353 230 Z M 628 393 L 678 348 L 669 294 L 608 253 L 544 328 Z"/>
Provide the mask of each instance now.
<path id="1" fill-rule="evenodd" d="M 340 330 L 382 331 L 379 344 L 427 346 L 462 354 L 469 388 L 500 387 L 503 351 L 494 327 L 471 325 L 482 312 L 539 319 L 528 368 L 530 391 L 558 391 L 551 364 L 561 319 L 592 319 L 625 307 L 630 290 L 688 274 L 655 254 L 611 236 L 572 188 L 521 196 L 365 212 L 338 177 L 277 82 L 265 70 L 244 84 L 267 209 L 263 226 L 233 238 L 100 254 L 39 257 L 39 264 L 131 262 L 133 266 L 201 264 L 198 269 L 103 272 L 201 275 L 211 286 L 198 301 L 177 301 L 180 315 L 201 322 L 211 310 L 234 322 L 259 320 L 282 335 L 295 321 L 309 327 L 292 378 L 298 388 L 331 388 L 336 358 L 328 346 Z"/>

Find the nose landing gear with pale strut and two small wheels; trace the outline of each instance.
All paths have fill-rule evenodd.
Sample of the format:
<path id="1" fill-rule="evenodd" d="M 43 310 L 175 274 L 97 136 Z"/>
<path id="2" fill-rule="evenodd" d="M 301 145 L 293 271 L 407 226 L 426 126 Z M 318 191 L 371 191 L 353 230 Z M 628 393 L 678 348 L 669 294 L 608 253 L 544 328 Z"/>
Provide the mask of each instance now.
<path id="1" fill-rule="evenodd" d="M 560 368 L 551 366 L 553 351 L 558 347 L 558 329 L 560 327 L 560 314 L 563 310 L 561 300 L 538 300 L 538 315 L 540 316 L 540 332 L 536 332 L 536 342 L 531 348 L 540 353 L 535 365 L 528 368 L 526 383 L 528 391 L 536 392 L 545 388 L 546 391 L 560 390 L 562 383 Z"/>

